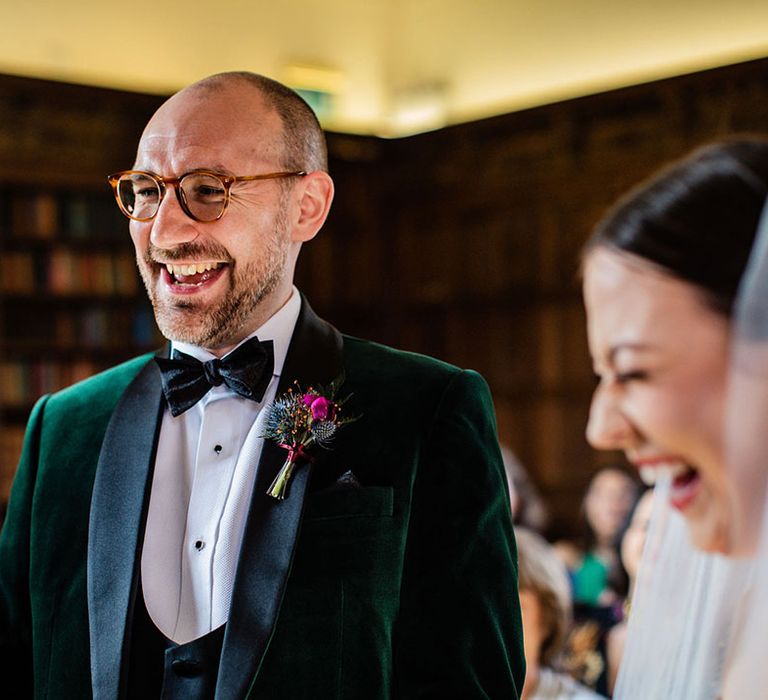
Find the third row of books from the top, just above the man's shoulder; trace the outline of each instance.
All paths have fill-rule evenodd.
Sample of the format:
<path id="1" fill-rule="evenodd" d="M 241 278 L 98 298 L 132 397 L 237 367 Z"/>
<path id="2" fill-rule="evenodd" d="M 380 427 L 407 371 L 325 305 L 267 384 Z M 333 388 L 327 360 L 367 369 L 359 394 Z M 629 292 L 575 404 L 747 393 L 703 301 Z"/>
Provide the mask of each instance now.
<path id="1" fill-rule="evenodd" d="M 73 349 L 138 351 L 160 343 L 148 304 L 59 309 L 45 323 L 16 305 L 3 314 L 0 333 L 7 353 L 30 348 L 49 354 Z"/>

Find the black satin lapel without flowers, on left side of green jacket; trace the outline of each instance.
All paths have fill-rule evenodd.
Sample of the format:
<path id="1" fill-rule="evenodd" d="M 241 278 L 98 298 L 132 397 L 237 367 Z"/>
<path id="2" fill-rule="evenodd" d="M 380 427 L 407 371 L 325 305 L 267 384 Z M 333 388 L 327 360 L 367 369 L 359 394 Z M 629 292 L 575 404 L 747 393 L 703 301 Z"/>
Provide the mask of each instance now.
<path id="1" fill-rule="evenodd" d="M 107 427 L 91 499 L 88 618 L 94 700 L 114 700 L 124 677 L 149 478 L 163 408 L 150 361 L 120 399 Z"/>

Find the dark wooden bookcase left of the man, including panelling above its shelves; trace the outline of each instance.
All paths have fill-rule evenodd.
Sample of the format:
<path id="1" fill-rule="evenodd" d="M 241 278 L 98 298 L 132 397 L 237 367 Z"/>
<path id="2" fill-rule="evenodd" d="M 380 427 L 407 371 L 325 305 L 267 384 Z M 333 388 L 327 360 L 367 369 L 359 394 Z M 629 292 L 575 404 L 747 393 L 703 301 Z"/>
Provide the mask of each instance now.
<path id="1" fill-rule="evenodd" d="M 37 398 L 160 342 L 106 182 L 160 101 L 0 75 L 0 507 Z"/>

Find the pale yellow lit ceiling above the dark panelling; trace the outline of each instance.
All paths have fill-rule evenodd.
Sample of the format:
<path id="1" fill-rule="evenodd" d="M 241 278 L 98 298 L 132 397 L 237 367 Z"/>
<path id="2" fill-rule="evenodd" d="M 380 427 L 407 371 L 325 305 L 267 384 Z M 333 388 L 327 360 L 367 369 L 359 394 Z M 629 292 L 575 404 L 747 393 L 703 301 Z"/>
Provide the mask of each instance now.
<path id="1" fill-rule="evenodd" d="M 766 0 L 0 0 L 0 72 L 172 92 L 223 70 L 397 136 L 768 56 Z"/>

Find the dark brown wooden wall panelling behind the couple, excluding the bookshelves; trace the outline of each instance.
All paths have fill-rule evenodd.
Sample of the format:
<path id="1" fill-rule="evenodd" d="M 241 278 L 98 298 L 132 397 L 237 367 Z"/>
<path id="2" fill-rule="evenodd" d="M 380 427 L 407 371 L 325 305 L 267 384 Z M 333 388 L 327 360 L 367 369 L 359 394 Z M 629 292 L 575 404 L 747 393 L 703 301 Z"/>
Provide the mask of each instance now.
<path id="1" fill-rule="evenodd" d="M 0 185 L 106 187 L 160 101 L 0 76 Z M 405 139 L 329 134 L 336 201 L 298 284 L 348 333 L 482 372 L 561 534 L 615 458 L 583 437 L 579 249 L 628 187 L 741 131 L 768 132 L 768 59 Z"/>

